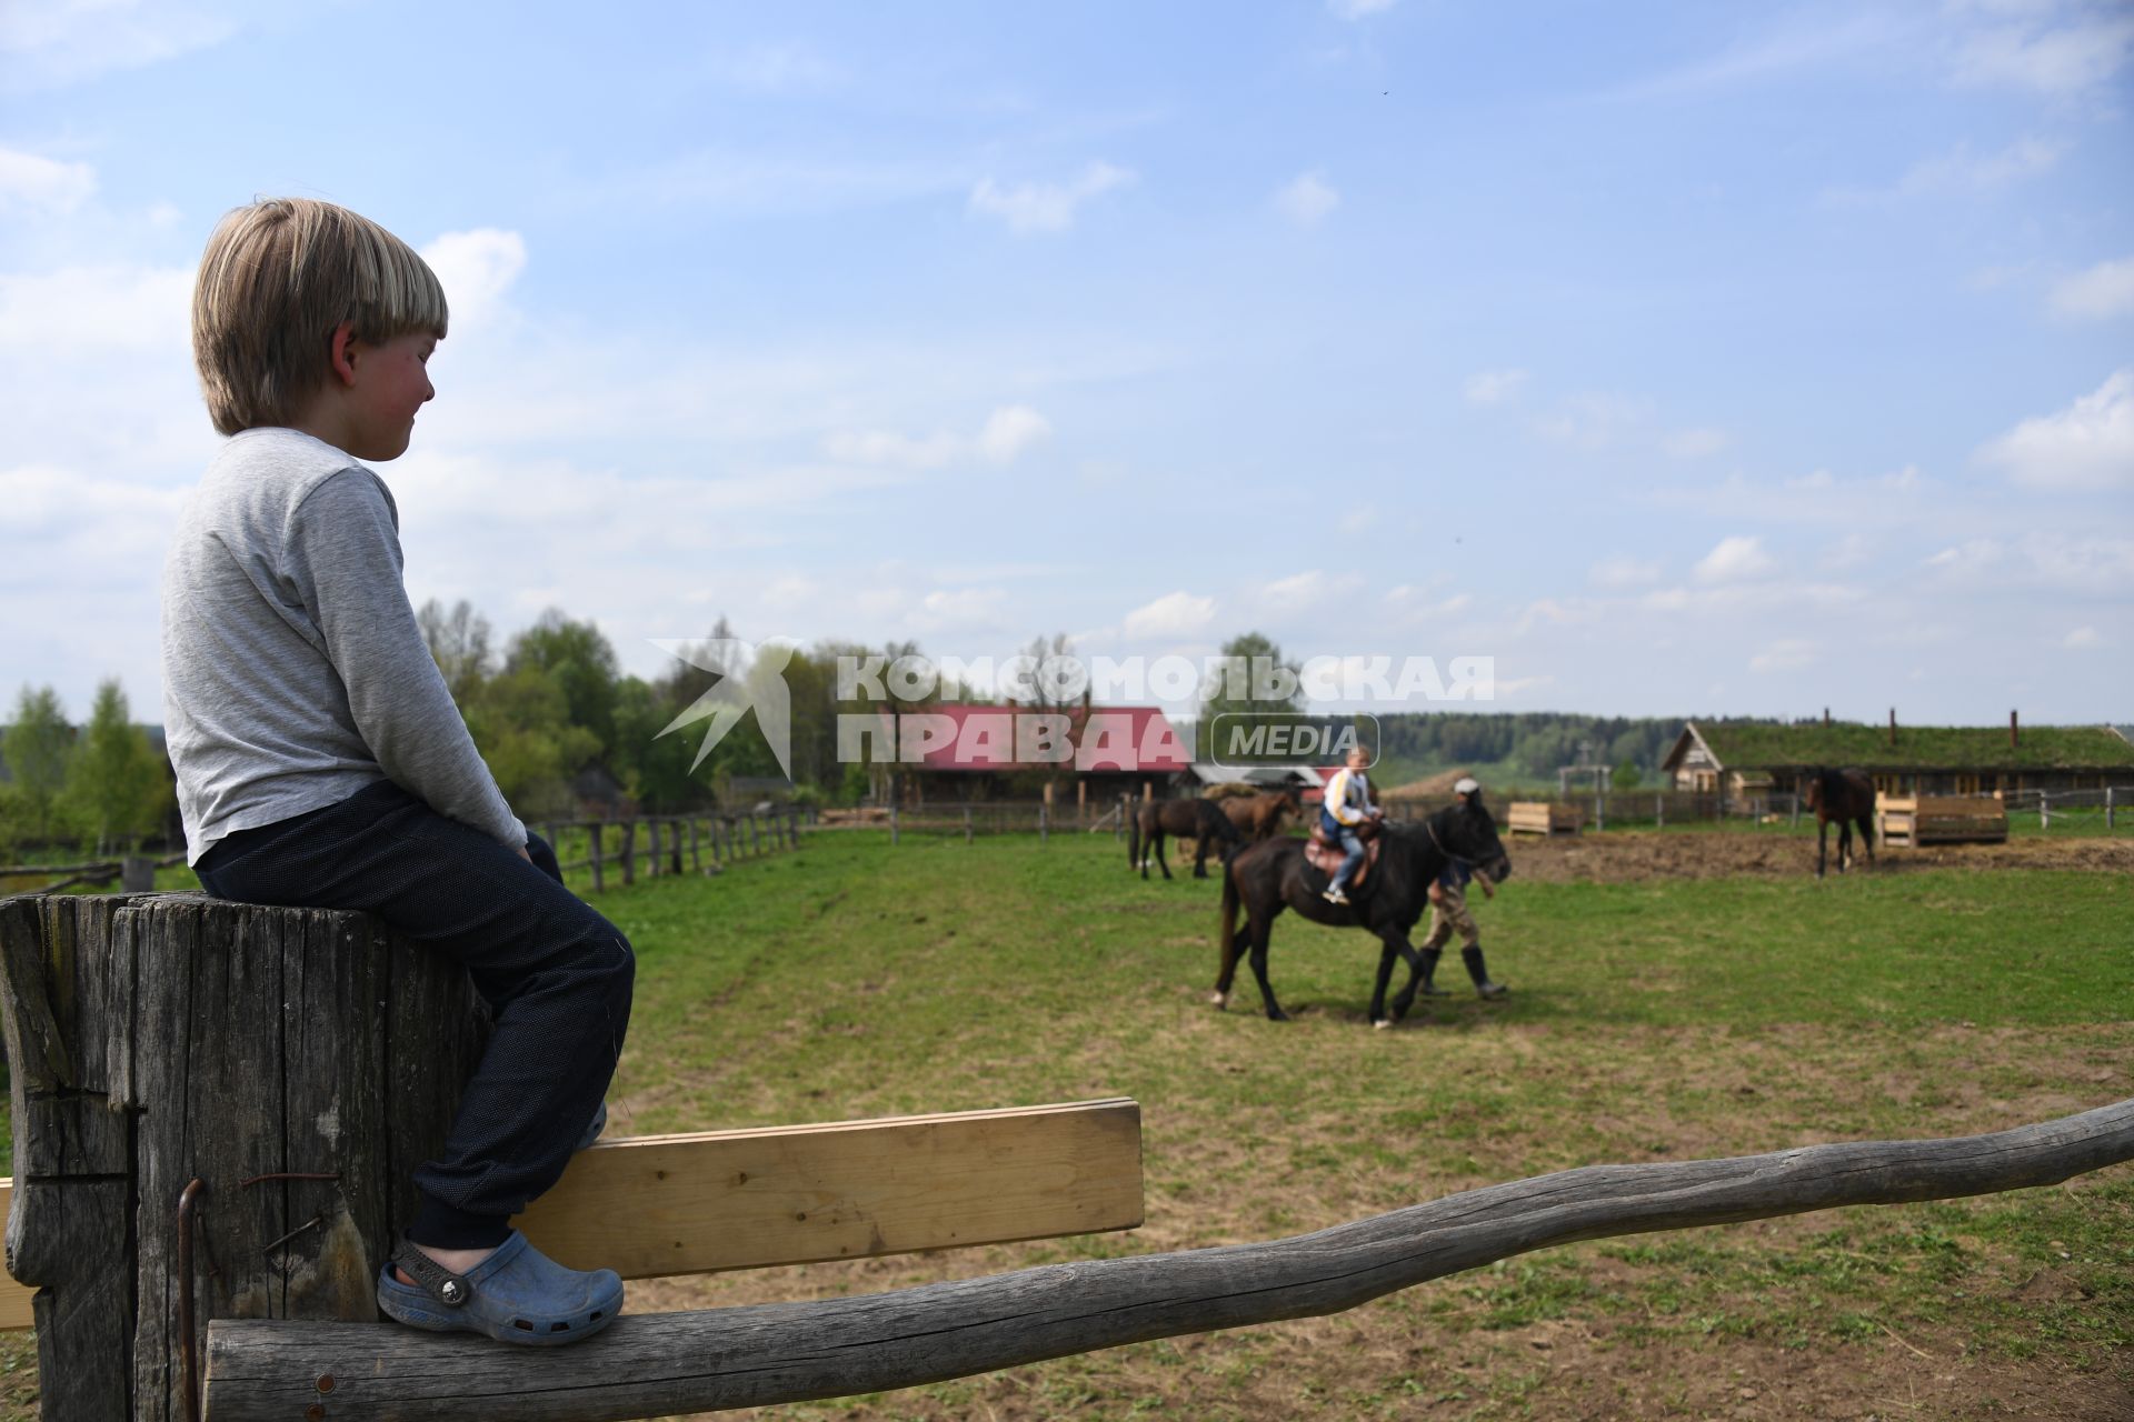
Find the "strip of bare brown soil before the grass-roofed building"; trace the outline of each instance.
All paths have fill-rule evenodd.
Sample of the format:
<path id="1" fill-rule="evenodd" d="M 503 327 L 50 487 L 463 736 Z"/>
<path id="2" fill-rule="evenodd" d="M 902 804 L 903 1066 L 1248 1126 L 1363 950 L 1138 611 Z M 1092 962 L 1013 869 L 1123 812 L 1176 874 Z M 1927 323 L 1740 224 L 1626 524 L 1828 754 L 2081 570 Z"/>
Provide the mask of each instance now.
<path id="1" fill-rule="evenodd" d="M 1650 878 L 1724 878 L 1752 874 L 1799 878 L 1816 872 L 1816 842 L 1788 834 L 1667 834 L 1658 829 L 1607 829 L 1579 836 L 1509 840 L 1519 878 L 1545 885 L 1639 883 Z M 1831 872 L 1837 872 L 1831 846 Z M 1904 874 L 1908 870 L 2093 870 L 2134 872 L 2134 840 L 2029 838 L 2006 844 L 1927 844 L 1882 849 L 1874 863 L 1857 861 L 1857 874 Z"/>

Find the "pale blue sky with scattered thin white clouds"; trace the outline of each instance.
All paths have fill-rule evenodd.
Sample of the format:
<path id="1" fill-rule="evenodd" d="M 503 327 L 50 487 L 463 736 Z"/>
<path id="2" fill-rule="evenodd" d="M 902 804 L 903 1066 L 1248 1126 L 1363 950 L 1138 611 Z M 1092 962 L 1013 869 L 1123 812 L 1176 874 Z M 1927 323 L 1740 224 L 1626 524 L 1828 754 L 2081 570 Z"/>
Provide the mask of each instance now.
<path id="1" fill-rule="evenodd" d="M 2130 58 L 2125 0 L 13 0 L 0 689 L 156 714 L 192 264 L 301 194 L 452 298 L 414 599 L 638 672 L 1257 629 L 2130 721 Z"/>

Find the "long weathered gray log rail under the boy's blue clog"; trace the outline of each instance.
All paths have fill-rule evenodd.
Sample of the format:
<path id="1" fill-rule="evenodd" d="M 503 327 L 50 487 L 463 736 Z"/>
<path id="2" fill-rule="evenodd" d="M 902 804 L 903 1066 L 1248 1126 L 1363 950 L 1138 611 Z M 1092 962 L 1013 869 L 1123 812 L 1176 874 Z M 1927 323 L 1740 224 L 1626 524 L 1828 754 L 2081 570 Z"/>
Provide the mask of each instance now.
<path id="1" fill-rule="evenodd" d="M 384 1324 L 218 1322 L 207 1396 L 216 1422 L 282 1422 L 320 1401 L 324 1416 L 363 1422 L 612 1422 L 764 1407 L 1340 1313 L 1579 1239 L 2053 1185 L 2125 1160 L 2134 1160 L 2134 1100 L 1950 1141 L 1586 1166 L 1263 1245 L 1050 1264 L 822 1303 L 623 1315 L 566 1350 L 506 1350 Z"/>

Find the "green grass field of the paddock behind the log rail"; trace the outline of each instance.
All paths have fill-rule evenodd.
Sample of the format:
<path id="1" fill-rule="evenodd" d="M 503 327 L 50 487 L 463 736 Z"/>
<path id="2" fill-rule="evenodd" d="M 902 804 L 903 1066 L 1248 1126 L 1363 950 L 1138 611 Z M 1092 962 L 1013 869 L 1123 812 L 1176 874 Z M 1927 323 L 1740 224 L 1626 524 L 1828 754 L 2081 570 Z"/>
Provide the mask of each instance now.
<path id="1" fill-rule="evenodd" d="M 657 1281 L 636 1309 L 1274 1239 L 1577 1164 L 2134 1094 L 2134 883 L 2111 872 L 1513 876 L 1477 912 L 1511 1000 L 1462 991 L 1398 1032 L 1364 1021 L 1374 942 L 1293 917 L 1272 974 L 1297 1021 L 1261 1019 L 1248 974 L 1212 1011 L 1216 885 L 1142 883 L 1110 836 L 817 834 L 600 908 L 640 955 L 619 1134 L 1125 1094 L 1148 1151 L 1131 1234 Z M 0 1347 L 17 1409 L 32 1358 Z M 1069 1413 L 2134 1416 L 2134 1168 L 1594 1241 L 1329 1320 L 773 1416 Z"/>

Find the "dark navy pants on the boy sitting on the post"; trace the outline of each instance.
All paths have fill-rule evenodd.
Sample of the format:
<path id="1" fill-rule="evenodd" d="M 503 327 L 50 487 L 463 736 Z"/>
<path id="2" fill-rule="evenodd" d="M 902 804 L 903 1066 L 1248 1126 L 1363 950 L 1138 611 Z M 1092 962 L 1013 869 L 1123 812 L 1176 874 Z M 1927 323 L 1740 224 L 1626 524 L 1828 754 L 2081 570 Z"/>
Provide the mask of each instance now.
<path id="1" fill-rule="evenodd" d="M 495 1032 L 444 1156 L 414 1173 L 423 1207 L 408 1234 L 420 1245 L 504 1243 L 510 1217 L 563 1175 L 623 1051 L 630 942 L 563 887 L 540 836 L 527 855 L 384 780 L 241 829 L 194 866 L 216 898 L 378 915 L 465 964 L 489 1002 Z"/>

